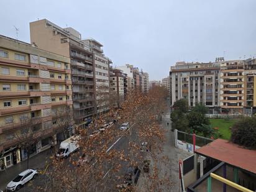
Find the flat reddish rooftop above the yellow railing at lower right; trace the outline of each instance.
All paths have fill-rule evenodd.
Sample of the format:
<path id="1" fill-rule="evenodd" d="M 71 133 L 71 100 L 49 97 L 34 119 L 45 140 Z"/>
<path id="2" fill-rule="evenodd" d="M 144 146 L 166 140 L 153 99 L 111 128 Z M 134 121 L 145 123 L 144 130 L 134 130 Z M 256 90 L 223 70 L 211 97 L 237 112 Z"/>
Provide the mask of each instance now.
<path id="1" fill-rule="evenodd" d="M 214 140 L 197 149 L 196 153 L 256 173 L 256 150 L 244 149 L 242 146 L 233 144 L 228 140 Z"/>

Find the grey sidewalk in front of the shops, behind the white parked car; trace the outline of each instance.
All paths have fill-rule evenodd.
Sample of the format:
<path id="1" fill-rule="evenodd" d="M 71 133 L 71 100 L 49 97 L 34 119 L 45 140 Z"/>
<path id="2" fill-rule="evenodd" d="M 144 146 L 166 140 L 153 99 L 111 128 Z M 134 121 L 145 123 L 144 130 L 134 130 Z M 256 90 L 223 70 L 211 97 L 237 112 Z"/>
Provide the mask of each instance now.
<path id="1" fill-rule="evenodd" d="M 44 169 L 45 162 L 48 162 L 50 157 L 50 149 L 40 152 L 33 157 L 29 158 L 29 168 L 34 168 L 36 170 Z M 27 169 L 27 160 L 21 163 L 17 163 L 10 168 L 0 172 L 0 190 L 6 188 L 7 183 L 14 179 L 19 173 Z"/>

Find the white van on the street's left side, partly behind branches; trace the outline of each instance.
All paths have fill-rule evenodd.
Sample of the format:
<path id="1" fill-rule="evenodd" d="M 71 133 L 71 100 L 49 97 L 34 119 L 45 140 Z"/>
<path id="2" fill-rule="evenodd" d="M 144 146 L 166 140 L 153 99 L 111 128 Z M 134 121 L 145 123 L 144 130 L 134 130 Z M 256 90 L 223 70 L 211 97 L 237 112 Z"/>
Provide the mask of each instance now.
<path id="1" fill-rule="evenodd" d="M 56 154 L 56 157 L 60 158 L 66 158 L 71 153 L 75 152 L 79 149 L 79 145 L 77 144 L 77 140 L 79 138 L 72 136 L 66 140 L 63 140 L 63 142 L 60 143 L 60 149 L 58 149 L 58 153 Z"/>

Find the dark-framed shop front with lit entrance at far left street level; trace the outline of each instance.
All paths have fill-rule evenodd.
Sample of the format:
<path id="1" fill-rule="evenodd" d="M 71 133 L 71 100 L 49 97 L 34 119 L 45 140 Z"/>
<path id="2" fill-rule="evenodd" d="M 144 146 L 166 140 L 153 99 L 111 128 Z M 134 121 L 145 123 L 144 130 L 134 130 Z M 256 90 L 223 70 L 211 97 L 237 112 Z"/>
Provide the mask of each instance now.
<path id="1" fill-rule="evenodd" d="M 21 162 L 21 148 L 19 145 L 5 149 L 0 154 L 0 171 Z"/>

